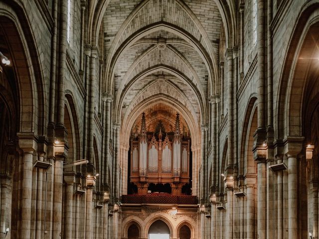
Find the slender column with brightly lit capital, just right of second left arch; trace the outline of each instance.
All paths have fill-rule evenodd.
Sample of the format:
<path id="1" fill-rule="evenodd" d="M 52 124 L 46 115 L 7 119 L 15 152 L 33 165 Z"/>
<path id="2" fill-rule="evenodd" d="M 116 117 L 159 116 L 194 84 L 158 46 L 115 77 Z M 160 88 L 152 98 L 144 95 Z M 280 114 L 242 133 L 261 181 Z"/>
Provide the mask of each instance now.
<path id="1" fill-rule="evenodd" d="M 95 182 L 95 176 L 88 175 L 86 177 L 86 239 L 92 239 L 93 187 L 95 186 Z"/>

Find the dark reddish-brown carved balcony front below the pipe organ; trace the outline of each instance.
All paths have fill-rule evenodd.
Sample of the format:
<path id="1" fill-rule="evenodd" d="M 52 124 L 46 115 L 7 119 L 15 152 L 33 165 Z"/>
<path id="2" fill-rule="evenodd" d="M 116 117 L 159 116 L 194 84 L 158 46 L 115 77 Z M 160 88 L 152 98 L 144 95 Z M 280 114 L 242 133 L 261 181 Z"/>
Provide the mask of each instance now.
<path id="1" fill-rule="evenodd" d="M 122 195 L 123 204 L 179 204 L 197 205 L 196 196 L 170 195 L 166 193 L 152 193 L 147 195 Z"/>

